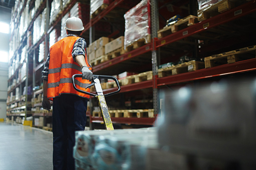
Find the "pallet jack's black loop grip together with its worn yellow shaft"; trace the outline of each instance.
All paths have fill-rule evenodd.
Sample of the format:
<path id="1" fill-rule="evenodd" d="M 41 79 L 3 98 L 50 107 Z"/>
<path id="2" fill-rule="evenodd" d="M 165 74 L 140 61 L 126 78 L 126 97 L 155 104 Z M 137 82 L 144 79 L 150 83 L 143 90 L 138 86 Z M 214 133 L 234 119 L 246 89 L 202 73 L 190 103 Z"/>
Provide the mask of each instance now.
<path id="1" fill-rule="evenodd" d="M 89 93 L 87 91 L 82 91 L 82 90 L 76 88 L 76 85 L 75 85 L 75 78 L 76 77 L 82 77 L 82 74 L 74 74 L 72 76 L 72 83 L 73 83 L 73 87 L 75 88 L 75 90 L 79 91 L 80 93 L 84 93 L 84 94 L 88 94 L 90 96 L 97 97 L 98 102 L 99 102 L 99 108 L 100 108 L 100 111 L 102 113 L 102 119 L 103 119 L 105 128 L 107 130 L 114 130 L 110 114 L 108 113 L 108 106 L 106 104 L 105 97 L 116 94 L 121 90 L 118 79 L 116 79 L 116 77 L 113 77 L 113 76 L 93 75 L 92 83 L 86 87 L 86 88 L 89 88 L 89 87 L 94 85 L 96 94 L 93 94 L 93 93 Z M 113 92 L 108 93 L 108 94 L 103 94 L 102 87 L 100 85 L 99 79 L 112 79 L 112 80 L 114 80 L 116 82 L 117 87 L 118 87 L 117 91 L 113 91 Z"/>

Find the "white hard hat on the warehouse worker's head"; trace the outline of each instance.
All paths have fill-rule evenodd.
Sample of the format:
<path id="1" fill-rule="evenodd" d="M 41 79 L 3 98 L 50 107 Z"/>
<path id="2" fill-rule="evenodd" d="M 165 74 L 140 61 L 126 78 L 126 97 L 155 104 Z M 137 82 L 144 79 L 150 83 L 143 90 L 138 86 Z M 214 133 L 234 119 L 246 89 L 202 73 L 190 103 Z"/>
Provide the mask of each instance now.
<path id="1" fill-rule="evenodd" d="M 70 31 L 82 31 L 84 30 L 83 22 L 78 17 L 68 18 L 66 21 L 65 29 Z"/>

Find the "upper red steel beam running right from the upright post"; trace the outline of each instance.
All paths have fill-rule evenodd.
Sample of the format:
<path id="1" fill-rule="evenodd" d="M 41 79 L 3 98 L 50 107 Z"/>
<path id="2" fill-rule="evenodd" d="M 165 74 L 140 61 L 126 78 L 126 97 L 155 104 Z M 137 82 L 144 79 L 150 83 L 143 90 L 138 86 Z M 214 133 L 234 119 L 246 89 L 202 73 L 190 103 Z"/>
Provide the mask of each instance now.
<path id="1" fill-rule="evenodd" d="M 163 37 L 157 40 L 156 45 L 157 48 L 175 42 L 177 40 L 181 40 L 185 37 L 189 37 L 193 34 L 197 34 L 206 29 L 216 27 L 218 25 L 228 23 L 232 20 L 236 20 L 237 18 L 243 17 L 247 14 L 256 12 L 256 2 L 252 0 L 248 3 L 245 3 L 236 8 L 230 9 L 224 13 L 218 14 L 214 17 L 211 17 L 207 20 L 201 21 L 200 23 L 196 23 L 195 25 L 189 26 L 188 28 L 184 28 L 180 31 L 177 31 L 174 34 L 170 34 L 166 37 Z M 253 22 L 253 21 L 252 21 Z"/>

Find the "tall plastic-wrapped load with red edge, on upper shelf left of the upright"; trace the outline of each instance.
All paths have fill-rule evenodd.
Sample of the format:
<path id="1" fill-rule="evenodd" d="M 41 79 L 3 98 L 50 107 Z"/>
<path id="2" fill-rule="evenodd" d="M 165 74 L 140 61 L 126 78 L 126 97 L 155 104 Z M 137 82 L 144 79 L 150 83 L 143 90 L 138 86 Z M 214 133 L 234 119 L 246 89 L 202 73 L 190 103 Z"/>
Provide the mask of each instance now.
<path id="1" fill-rule="evenodd" d="M 148 43 L 151 34 L 150 3 L 142 0 L 124 15 L 125 17 L 125 47 L 140 39 Z"/>

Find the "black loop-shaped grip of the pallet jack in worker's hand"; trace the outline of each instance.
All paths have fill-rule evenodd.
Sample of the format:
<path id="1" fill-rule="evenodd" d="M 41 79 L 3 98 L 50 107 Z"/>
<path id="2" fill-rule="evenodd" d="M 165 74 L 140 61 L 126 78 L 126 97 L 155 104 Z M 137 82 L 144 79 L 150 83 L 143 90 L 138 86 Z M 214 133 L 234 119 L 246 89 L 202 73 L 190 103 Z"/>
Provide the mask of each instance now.
<path id="1" fill-rule="evenodd" d="M 94 97 L 97 96 L 97 94 L 93 94 L 93 93 L 90 93 L 90 92 L 87 92 L 87 91 L 82 91 L 82 90 L 76 88 L 76 85 L 75 85 L 75 78 L 76 78 L 76 77 L 82 77 L 82 74 L 74 74 L 74 75 L 72 76 L 73 87 L 75 88 L 76 91 L 79 91 L 79 92 L 81 92 L 81 93 L 88 94 L 88 95 L 94 96 Z M 112 79 L 112 80 L 114 80 L 114 81 L 116 82 L 116 85 L 117 85 L 117 87 L 118 87 L 117 91 L 113 91 L 113 92 L 111 92 L 111 93 L 104 94 L 105 97 L 111 96 L 111 95 L 116 94 L 116 93 L 119 93 L 119 91 L 121 90 L 120 85 L 119 85 L 119 81 L 118 81 L 118 79 L 116 79 L 116 77 L 113 77 L 113 76 L 105 76 L 105 75 L 93 75 L 93 81 L 92 81 L 92 83 L 91 83 L 90 85 L 88 85 L 86 88 L 93 86 L 93 85 L 94 85 L 94 79 L 97 79 L 97 78 L 98 78 L 98 79 Z"/>

